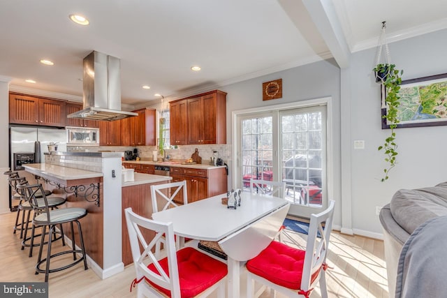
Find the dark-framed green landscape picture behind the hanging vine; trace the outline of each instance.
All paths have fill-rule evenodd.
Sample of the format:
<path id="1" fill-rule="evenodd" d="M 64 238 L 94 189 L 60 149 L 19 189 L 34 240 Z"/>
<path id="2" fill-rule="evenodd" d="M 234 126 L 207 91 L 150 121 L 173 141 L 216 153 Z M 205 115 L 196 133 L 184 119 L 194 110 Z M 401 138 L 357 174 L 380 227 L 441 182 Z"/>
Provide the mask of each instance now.
<path id="1" fill-rule="evenodd" d="M 404 80 L 400 85 L 397 128 L 447 125 L 447 73 Z M 381 89 L 382 128 L 390 128 L 386 115 L 386 90 Z"/>

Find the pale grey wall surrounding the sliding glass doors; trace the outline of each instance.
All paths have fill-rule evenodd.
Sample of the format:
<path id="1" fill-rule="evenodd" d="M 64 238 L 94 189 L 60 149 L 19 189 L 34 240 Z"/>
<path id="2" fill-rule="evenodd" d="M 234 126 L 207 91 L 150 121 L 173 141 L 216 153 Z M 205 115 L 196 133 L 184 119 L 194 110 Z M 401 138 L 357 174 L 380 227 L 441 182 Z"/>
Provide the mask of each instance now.
<path id="1" fill-rule="evenodd" d="M 263 101 L 262 83 L 279 78 L 282 78 L 282 98 Z M 337 201 L 334 224 L 336 226 L 340 225 L 342 216 L 340 209 L 340 70 L 335 65 L 335 62 L 332 59 L 330 61 L 321 61 L 230 84 L 219 89 L 228 93 L 226 103 L 228 144 L 232 142 L 231 113 L 235 110 L 280 105 L 312 98 L 332 98 L 333 142 L 329 158 L 332 160 L 333 168 L 329 174 L 332 176 L 333 188 L 331 199 L 333 198 Z M 230 169 L 232 168 L 232 163 L 233 161 L 228 161 Z M 231 174 L 233 173 L 230 170 Z M 231 179 L 229 179 L 228 183 L 228 187 L 232 188 L 233 186 L 230 185 Z"/>

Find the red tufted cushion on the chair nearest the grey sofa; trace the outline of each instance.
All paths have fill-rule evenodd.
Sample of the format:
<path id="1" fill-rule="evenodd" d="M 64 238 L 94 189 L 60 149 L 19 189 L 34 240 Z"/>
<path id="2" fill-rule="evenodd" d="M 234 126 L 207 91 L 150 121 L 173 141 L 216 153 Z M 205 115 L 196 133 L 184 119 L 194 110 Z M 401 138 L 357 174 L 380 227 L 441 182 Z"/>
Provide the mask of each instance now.
<path id="1" fill-rule="evenodd" d="M 265 248 L 259 255 L 247 262 L 247 269 L 274 284 L 300 290 L 305 251 L 277 241 Z M 318 271 L 312 276 L 312 283 Z"/>

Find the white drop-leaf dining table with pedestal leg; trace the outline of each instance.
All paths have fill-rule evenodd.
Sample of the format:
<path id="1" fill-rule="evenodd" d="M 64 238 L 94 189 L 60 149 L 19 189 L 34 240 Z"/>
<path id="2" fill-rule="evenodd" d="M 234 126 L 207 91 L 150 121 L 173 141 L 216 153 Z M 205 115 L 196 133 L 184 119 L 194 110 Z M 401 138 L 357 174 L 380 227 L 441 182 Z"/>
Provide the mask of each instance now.
<path id="1" fill-rule="evenodd" d="M 152 214 L 155 221 L 172 222 L 179 237 L 218 241 L 228 255 L 228 295 L 240 297 L 240 262 L 254 258 L 270 244 L 290 204 L 281 198 L 241 194 L 241 205 L 221 204 L 226 194 Z"/>

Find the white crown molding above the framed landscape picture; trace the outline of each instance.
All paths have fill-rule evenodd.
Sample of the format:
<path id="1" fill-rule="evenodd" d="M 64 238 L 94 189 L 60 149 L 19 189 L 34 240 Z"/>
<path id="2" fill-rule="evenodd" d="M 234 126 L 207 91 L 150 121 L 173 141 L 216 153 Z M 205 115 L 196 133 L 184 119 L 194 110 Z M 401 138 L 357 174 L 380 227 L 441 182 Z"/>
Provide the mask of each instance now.
<path id="1" fill-rule="evenodd" d="M 420 36 L 427 33 L 432 33 L 434 31 L 439 31 L 447 28 L 447 17 L 434 22 L 426 23 L 420 26 L 411 27 L 409 29 L 395 31 L 391 33 L 386 33 L 386 41 L 388 43 L 394 43 L 399 40 L 404 40 L 407 38 L 412 38 Z M 379 36 L 375 38 L 369 38 L 367 40 L 362 40 L 356 45 L 353 45 L 352 52 L 359 52 L 362 50 L 367 50 L 372 47 L 376 47 L 379 40 Z"/>

